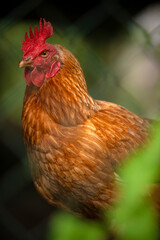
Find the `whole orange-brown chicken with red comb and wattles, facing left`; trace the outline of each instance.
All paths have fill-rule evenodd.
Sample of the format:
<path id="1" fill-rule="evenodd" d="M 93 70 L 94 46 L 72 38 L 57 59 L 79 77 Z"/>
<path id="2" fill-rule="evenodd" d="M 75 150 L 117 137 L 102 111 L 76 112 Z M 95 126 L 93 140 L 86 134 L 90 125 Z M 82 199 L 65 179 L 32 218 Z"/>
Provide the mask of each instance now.
<path id="1" fill-rule="evenodd" d="M 75 56 L 45 42 L 53 35 L 50 22 L 40 19 L 39 30 L 29 33 L 19 67 L 25 67 L 22 127 L 35 187 L 54 206 L 98 218 L 115 201 L 115 169 L 145 143 L 150 123 L 89 95 Z"/>

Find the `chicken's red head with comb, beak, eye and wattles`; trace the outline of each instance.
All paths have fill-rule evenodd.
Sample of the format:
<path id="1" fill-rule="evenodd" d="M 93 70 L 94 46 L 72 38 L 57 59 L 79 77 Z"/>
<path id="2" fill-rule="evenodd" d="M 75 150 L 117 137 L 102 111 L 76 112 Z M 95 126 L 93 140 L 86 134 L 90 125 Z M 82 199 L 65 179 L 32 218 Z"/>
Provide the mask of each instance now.
<path id="1" fill-rule="evenodd" d="M 43 26 L 44 25 L 44 26 Z M 24 52 L 19 67 L 25 67 L 24 77 L 28 85 L 34 84 L 40 87 L 44 80 L 53 77 L 60 69 L 60 56 L 54 45 L 46 43 L 45 40 L 53 35 L 50 22 L 40 19 L 39 30 L 34 28 L 34 34 L 30 27 L 30 38 L 25 34 L 22 41 Z"/>

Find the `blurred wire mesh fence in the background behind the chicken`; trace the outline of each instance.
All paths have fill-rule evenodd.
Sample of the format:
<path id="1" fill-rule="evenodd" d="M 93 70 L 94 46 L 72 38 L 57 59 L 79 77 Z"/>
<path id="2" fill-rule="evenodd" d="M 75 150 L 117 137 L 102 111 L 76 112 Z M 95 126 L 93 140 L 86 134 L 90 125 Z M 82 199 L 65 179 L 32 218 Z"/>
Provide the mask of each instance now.
<path id="1" fill-rule="evenodd" d="M 52 43 L 79 59 L 90 94 L 149 118 L 160 105 L 160 5 L 127 6 L 97 1 L 89 7 L 52 1 L 23 1 L 0 19 L 0 236 L 47 239 L 57 211 L 34 190 L 21 134 L 25 81 L 18 69 L 21 41 L 40 17 L 52 22 Z M 83 5 L 83 6 L 82 6 Z"/>

